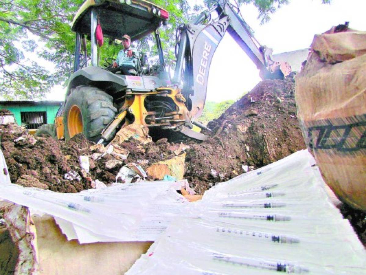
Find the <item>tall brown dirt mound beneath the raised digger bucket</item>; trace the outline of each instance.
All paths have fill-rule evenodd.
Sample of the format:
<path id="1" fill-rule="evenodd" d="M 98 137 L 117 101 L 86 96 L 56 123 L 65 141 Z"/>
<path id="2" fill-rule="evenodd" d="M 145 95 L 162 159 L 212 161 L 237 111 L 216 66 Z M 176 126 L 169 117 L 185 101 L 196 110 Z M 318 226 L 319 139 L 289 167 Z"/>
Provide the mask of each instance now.
<path id="1" fill-rule="evenodd" d="M 190 142 L 186 178 L 198 193 L 305 149 L 294 99 L 294 75 L 265 80 L 208 124 L 210 138 Z"/>

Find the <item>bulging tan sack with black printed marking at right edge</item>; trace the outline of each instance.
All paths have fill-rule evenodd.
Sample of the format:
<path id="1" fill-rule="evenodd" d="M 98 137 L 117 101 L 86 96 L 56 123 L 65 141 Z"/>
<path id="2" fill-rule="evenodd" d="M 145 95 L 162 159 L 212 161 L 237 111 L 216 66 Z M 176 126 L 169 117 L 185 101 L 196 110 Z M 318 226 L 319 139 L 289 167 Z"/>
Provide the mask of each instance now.
<path id="1" fill-rule="evenodd" d="M 314 37 L 296 76 L 307 148 L 340 200 L 366 211 L 366 32 Z"/>

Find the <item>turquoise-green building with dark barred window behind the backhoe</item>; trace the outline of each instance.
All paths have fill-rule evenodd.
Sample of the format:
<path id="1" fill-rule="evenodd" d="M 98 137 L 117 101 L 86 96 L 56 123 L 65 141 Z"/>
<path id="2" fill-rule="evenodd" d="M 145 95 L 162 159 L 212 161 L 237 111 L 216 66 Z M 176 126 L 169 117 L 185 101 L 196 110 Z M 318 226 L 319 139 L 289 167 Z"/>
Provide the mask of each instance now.
<path id="1" fill-rule="evenodd" d="M 11 111 L 18 125 L 32 130 L 54 123 L 62 104 L 63 101 L 0 101 L 0 109 Z"/>

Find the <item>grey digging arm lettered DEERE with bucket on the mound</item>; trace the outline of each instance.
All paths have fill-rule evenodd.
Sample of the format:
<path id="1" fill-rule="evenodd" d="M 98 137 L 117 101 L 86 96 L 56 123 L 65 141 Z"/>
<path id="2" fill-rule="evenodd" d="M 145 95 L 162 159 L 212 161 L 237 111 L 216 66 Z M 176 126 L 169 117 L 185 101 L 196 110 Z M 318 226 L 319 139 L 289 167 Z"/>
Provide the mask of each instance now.
<path id="1" fill-rule="evenodd" d="M 214 11 L 218 18 L 201 25 Z M 291 72 L 288 64 L 273 61 L 272 50 L 259 44 L 253 30 L 227 0 L 219 0 L 211 10 L 202 12 L 178 31 L 180 39 L 173 83 L 179 86 L 183 82 L 182 94 L 187 100 L 190 122 L 194 123 L 202 114 L 212 57 L 226 31 L 254 62 L 262 79 L 283 78 Z"/>

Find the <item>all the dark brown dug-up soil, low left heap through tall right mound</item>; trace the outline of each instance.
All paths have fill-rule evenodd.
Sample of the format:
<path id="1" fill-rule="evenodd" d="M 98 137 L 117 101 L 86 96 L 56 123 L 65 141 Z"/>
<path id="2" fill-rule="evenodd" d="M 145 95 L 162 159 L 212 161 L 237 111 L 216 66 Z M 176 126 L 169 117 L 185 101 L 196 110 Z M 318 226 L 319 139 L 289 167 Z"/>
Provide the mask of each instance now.
<path id="1" fill-rule="evenodd" d="M 56 141 L 46 136 L 34 138 L 23 127 L 3 125 L 0 139 L 11 181 L 19 185 L 79 192 L 92 188 L 95 179 L 107 185 L 115 182 L 126 163 L 137 163 L 146 171 L 157 161 L 182 154 L 183 149 L 187 153 L 184 178 L 197 194 L 203 194 L 217 182 L 242 174 L 243 166 L 254 170 L 306 148 L 296 116 L 294 75 L 258 83 L 208 127 L 212 133 L 204 142 L 183 139 L 183 143 L 173 143 L 167 138 L 147 145 L 136 140 L 124 142 L 121 147 L 129 152 L 126 160 L 109 154 L 93 159 L 103 151 L 83 134 L 70 141 Z M 80 168 L 82 155 L 89 156 L 89 174 Z M 115 165 L 106 166 L 111 161 Z M 66 179 L 64 175 L 70 171 L 79 179 Z M 366 214 L 347 205 L 341 212 L 366 244 Z"/>

